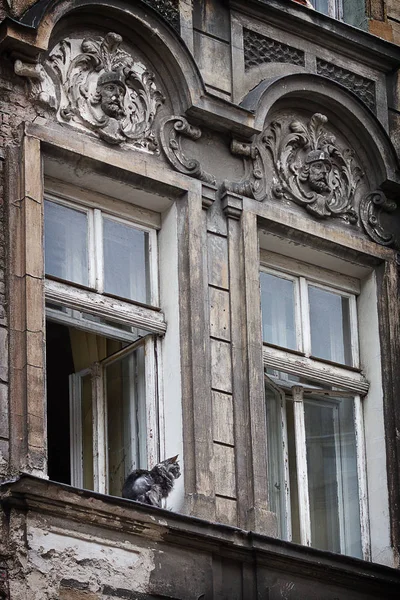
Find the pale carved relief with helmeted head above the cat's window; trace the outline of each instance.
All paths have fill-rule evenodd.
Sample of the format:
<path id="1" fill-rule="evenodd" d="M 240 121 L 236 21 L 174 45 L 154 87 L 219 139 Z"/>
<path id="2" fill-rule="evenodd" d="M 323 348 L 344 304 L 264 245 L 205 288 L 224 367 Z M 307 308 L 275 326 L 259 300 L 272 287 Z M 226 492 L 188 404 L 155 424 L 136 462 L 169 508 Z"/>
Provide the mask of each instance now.
<path id="1" fill-rule="evenodd" d="M 37 78 L 45 82 L 46 89 L 53 87 L 53 95 L 45 93 L 57 98 L 54 104 L 60 122 L 89 130 L 109 144 L 155 152 L 158 143 L 153 123 L 165 98 L 154 75 L 121 49 L 121 44 L 117 33 L 65 39 L 55 46 L 43 67 L 36 66 Z M 34 77 L 26 65 L 16 64 L 15 70 L 31 80 Z"/>

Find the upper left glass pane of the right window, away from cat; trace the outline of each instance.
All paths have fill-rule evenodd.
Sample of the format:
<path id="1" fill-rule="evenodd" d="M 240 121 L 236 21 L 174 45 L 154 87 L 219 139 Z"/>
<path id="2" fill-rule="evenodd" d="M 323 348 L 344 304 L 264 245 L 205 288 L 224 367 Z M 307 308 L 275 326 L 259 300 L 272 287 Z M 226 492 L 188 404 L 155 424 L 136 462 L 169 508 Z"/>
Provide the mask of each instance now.
<path id="1" fill-rule="evenodd" d="M 294 282 L 270 273 L 260 273 L 263 340 L 297 349 Z"/>

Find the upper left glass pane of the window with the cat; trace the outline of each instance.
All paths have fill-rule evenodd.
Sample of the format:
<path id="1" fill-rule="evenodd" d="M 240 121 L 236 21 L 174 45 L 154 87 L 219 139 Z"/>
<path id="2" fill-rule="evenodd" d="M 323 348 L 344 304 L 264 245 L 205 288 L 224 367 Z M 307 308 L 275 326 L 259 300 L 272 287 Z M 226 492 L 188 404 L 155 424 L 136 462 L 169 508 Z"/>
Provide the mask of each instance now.
<path id="1" fill-rule="evenodd" d="M 45 200 L 44 223 L 46 274 L 88 286 L 87 213 Z"/>

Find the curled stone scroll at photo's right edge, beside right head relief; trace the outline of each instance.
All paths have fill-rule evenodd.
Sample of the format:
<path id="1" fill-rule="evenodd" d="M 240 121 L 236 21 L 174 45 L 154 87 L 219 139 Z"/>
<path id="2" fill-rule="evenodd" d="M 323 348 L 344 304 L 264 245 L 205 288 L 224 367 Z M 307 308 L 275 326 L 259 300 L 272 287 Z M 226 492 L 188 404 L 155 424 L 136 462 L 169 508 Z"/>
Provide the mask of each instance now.
<path id="1" fill-rule="evenodd" d="M 385 230 L 381 222 L 382 213 L 392 213 L 397 204 L 389 200 L 382 190 L 370 192 L 360 202 L 360 219 L 369 237 L 382 246 L 398 247 L 393 233 Z"/>

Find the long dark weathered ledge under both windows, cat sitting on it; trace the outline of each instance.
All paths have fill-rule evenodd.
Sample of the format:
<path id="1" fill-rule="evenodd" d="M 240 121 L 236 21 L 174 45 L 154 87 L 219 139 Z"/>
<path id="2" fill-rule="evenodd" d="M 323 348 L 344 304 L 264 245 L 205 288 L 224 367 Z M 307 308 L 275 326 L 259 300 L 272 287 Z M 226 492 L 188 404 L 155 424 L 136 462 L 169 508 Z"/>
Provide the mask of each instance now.
<path id="1" fill-rule="evenodd" d="M 385 597 L 389 598 L 391 594 L 395 597 L 397 586 L 400 585 L 400 572 L 390 567 L 28 474 L 0 485 L 0 503 L 5 510 L 14 508 L 23 511 L 28 520 L 35 521 L 35 516 L 46 515 L 43 528 L 51 528 L 52 518 L 55 523 L 60 518 L 70 521 L 71 531 L 78 531 L 77 523 L 85 526 L 90 524 L 103 530 L 105 541 L 107 530 L 122 531 L 124 537 L 133 535 L 142 538 L 141 546 L 143 538 L 147 538 L 150 547 L 154 547 L 154 540 L 157 540 L 161 550 L 165 541 L 164 551 L 168 551 L 167 545 L 173 542 L 175 552 L 209 553 L 210 560 L 218 547 L 218 554 L 229 552 L 231 559 L 244 560 L 255 566 L 262 560 L 263 569 L 268 565 L 271 571 L 284 568 L 288 576 L 312 576 L 314 584 L 318 582 L 322 592 L 322 586 L 340 582 L 340 585 L 348 586 L 352 593 L 369 589 L 372 594 L 372 588 L 376 585 L 377 593 L 386 593 Z M 38 527 L 37 520 L 34 526 Z M 328 587 L 325 591 L 328 591 Z"/>

